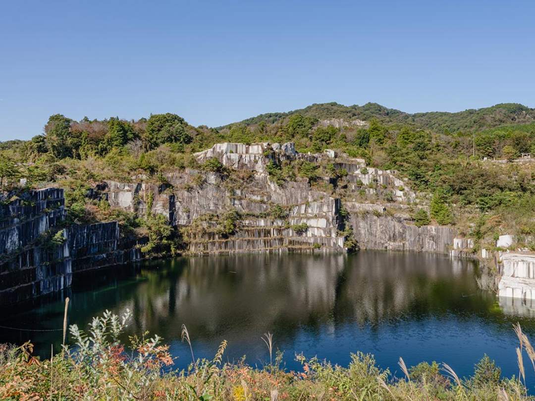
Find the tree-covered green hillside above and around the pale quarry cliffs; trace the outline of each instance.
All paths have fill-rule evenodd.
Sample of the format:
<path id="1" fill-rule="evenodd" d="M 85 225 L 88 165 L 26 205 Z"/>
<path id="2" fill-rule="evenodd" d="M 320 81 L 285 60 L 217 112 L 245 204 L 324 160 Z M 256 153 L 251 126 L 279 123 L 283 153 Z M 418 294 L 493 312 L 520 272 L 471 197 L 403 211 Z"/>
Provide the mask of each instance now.
<path id="1" fill-rule="evenodd" d="M 418 194 L 402 202 L 402 208 L 415 222 L 424 226 L 454 226 L 462 236 L 487 243 L 496 235 L 514 234 L 522 236 L 535 249 L 535 163 L 533 159 L 521 158 L 526 153 L 535 155 L 534 115 L 533 109 L 515 104 L 460 113 L 408 114 L 373 103 L 328 103 L 289 113 L 263 114 L 244 124 L 209 128 L 193 127 L 172 113 L 152 114 L 137 121 L 117 117 L 75 121 L 55 114 L 47 121 L 43 135 L 30 141 L 0 144 L 0 187 L 9 189 L 25 184 L 29 188 L 64 188 L 70 221 L 94 223 L 113 218 L 122 219 L 129 228 L 141 225 L 149 232 L 159 227 L 161 232 L 153 234 L 155 241 L 160 241 L 166 229 L 156 225 L 150 216 L 143 215 L 148 218 L 144 222 L 117 217 L 114 205 L 110 211 L 109 202 L 101 202 L 105 197 L 89 202 L 86 195 L 94 195 L 108 181 L 133 188 L 150 184 L 181 199 L 177 205 L 186 205 L 190 213 L 194 210 L 190 205 L 220 193 L 213 189 L 198 199 L 190 196 L 195 188 L 209 188 L 205 182 L 214 180 L 198 172 L 215 171 L 221 175 L 220 187 L 232 196 L 221 195 L 218 202 L 210 201 L 197 211 L 198 216 L 204 213 L 206 219 L 215 223 L 223 218 L 225 208 L 217 210 L 216 215 L 212 213 L 216 211 L 214 205 L 224 204 L 230 211 L 236 209 L 249 188 L 246 179 L 250 179 L 250 174 L 240 169 L 231 169 L 230 173 L 213 156 L 200 163 L 196 155 L 217 143 L 256 143 L 262 147 L 262 157 L 256 161 L 262 162 L 264 168 L 255 174 L 264 181 L 253 182 L 253 189 L 263 188 L 266 194 L 279 194 L 279 198 L 251 195 L 255 207 L 264 198 L 266 209 L 271 203 L 279 204 L 284 194 L 312 199 L 310 194 L 322 192 L 322 196 L 333 196 L 341 202 L 382 204 L 392 209 L 396 191 L 402 191 L 401 184 L 391 185 L 379 178 L 377 182 L 368 180 L 369 174 L 381 171 L 392 174 L 392 180 L 403 180 L 406 184 L 401 187 Z M 360 121 L 338 124 L 341 119 Z M 333 124 L 318 124 L 320 120 Z M 366 124 L 361 124 L 362 120 Z M 451 134 L 445 135 L 446 131 Z M 288 143 L 302 156 L 277 159 L 267 147 Z M 324 154 L 340 155 L 340 160 L 314 158 Z M 241 160 L 249 156 L 233 150 L 228 157 Z M 362 176 L 355 175 L 353 162 L 338 166 L 355 158 L 361 160 L 357 164 L 363 165 L 363 171 L 358 173 Z M 228 179 L 233 174 L 238 180 L 234 184 Z M 191 182 L 180 181 L 188 176 Z M 304 184 L 300 180 L 305 180 Z M 302 187 L 295 187 L 296 182 Z M 180 194 L 184 196 L 180 198 Z M 125 196 L 132 201 L 138 195 L 134 192 Z M 289 207 L 300 202 L 283 203 Z M 155 205 L 163 210 L 161 203 Z M 344 207 L 350 211 L 349 203 Z M 244 213 L 265 212 L 251 210 L 244 209 Z M 189 221 L 188 213 L 178 211 L 167 214 Z M 355 223 L 355 232 L 357 228 Z M 363 238 L 369 237 L 374 235 L 362 235 L 359 239 L 364 242 Z"/>

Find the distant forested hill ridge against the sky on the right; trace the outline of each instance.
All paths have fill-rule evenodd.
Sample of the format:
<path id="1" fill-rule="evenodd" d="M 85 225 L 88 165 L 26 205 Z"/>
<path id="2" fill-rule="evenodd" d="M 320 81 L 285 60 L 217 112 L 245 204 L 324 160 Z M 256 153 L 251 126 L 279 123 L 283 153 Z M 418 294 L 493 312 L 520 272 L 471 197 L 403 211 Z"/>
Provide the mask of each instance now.
<path id="1" fill-rule="evenodd" d="M 343 119 L 369 121 L 373 118 L 385 124 L 411 124 L 418 128 L 430 129 L 434 132 L 455 133 L 494 128 L 501 125 L 528 124 L 535 121 L 535 109 L 518 103 L 501 103 L 482 109 L 469 109 L 456 113 L 425 112 L 405 113 L 400 110 L 388 109 L 377 103 L 366 103 L 363 106 L 344 106 L 335 102 L 315 103 L 304 109 L 286 113 L 265 113 L 241 121 L 244 125 L 255 125 L 264 121 L 268 124 L 284 122 L 293 114 L 301 114 L 318 120 Z"/>

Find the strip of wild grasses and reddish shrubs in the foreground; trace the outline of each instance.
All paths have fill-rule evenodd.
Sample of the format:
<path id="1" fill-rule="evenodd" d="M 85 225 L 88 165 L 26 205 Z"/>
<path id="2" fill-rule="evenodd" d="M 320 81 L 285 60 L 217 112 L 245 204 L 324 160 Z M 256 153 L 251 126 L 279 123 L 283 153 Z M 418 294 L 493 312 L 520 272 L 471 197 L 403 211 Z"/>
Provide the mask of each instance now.
<path id="1" fill-rule="evenodd" d="M 182 340 L 192 353 L 187 369 L 173 371 L 169 347 L 158 336 L 130 338 L 127 348 L 118 340 L 131 314 L 118 317 L 106 311 L 86 331 L 70 327 L 74 345 L 64 346 L 49 360 L 33 357 L 33 345 L 0 346 L 0 399 L 7 400 L 535 400 L 526 391 L 524 353 L 535 369 L 535 351 L 514 325 L 518 377 L 501 377 L 499 367 L 484 356 L 468 378 L 460 378 L 447 364 L 421 363 L 399 366 L 403 377 L 377 366 L 371 354 L 351 354 L 347 367 L 317 358 L 295 356 L 299 372 L 281 368 L 282 353 L 273 358 L 273 335 L 261 339 L 270 361 L 253 368 L 240 360 L 223 363 L 227 342 L 211 360 L 195 359 L 188 330 L 182 326 Z M 513 357 L 513 356 L 511 356 Z"/>

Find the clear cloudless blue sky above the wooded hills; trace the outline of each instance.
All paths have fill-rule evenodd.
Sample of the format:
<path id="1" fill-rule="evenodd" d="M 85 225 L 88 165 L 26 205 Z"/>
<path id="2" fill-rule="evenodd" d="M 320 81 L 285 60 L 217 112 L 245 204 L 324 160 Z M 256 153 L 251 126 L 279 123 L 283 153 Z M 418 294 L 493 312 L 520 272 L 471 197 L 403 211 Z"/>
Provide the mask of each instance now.
<path id="1" fill-rule="evenodd" d="M 0 1 L 0 140 L 55 113 L 220 126 L 332 101 L 535 107 L 533 0 Z"/>

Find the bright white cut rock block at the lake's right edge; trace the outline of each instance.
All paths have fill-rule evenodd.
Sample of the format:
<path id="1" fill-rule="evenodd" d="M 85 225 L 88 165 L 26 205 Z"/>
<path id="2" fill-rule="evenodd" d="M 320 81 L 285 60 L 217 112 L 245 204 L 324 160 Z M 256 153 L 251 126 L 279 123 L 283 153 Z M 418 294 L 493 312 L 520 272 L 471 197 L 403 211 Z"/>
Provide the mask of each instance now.
<path id="1" fill-rule="evenodd" d="M 498 284 L 500 297 L 535 299 L 535 255 L 502 253 L 502 278 Z"/>

